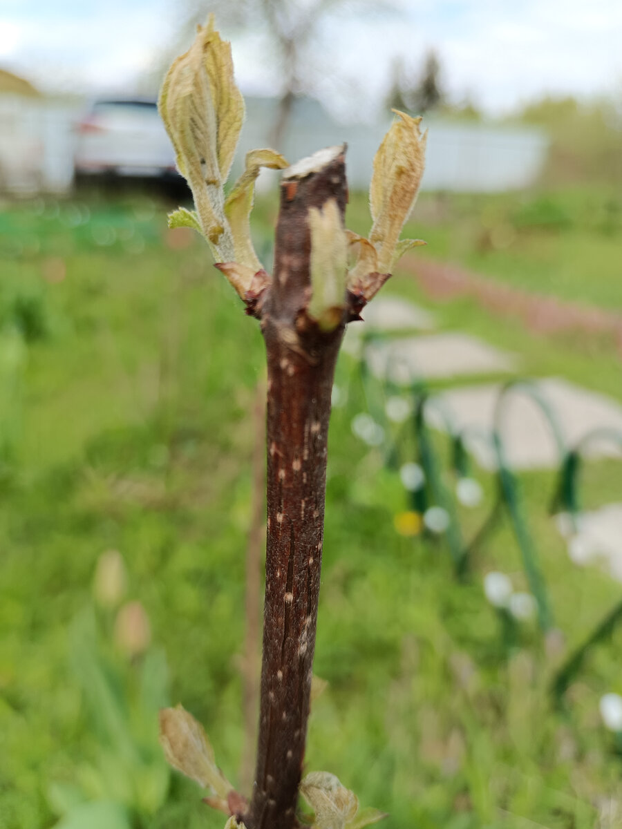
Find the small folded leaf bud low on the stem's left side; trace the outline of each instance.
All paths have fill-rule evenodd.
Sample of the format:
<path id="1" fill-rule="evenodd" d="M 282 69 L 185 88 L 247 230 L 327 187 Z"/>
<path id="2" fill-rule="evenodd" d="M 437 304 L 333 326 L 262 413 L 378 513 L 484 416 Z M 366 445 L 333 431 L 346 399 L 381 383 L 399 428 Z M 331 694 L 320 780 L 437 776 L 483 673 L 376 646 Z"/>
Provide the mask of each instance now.
<path id="1" fill-rule="evenodd" d="M 160 711 L 160 744 L 169 765 L 226 800 L 233 787 L 216 766 L 202 725 L 182 705 Z"/>

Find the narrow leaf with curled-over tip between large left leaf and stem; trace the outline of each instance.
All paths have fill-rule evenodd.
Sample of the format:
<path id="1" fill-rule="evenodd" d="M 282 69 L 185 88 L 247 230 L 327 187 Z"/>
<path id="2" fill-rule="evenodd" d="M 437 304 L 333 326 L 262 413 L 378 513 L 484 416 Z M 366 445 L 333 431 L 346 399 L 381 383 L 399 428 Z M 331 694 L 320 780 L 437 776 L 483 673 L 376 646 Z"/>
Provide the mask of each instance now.
<path id="1" fill-rule="evenodd" d="M 261 167 L 283 170 L 287 167 L 287 162 L 275 150 L 260 149 L 246 153 L 245 171 L 225 202 L 225 215 L 231 227 L 236 262 L 253 269 L 253 273 L 260 270 L 261 264 L 250 240 L 249 216 L 255 199 L 255 181 Z"/>

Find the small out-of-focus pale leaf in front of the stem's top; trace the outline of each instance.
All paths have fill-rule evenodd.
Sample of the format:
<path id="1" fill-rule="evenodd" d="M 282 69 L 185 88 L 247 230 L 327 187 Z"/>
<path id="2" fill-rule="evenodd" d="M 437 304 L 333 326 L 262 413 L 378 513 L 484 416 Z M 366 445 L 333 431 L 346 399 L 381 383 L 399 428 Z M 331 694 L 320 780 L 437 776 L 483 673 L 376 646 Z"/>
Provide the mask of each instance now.
<path id="1" fill-rule="evenodd" d="M 309 317 L 323 331 L 338 327 L 346 303 L 347 236 L 337 201 L 309 208 L 311 300 Z"/>

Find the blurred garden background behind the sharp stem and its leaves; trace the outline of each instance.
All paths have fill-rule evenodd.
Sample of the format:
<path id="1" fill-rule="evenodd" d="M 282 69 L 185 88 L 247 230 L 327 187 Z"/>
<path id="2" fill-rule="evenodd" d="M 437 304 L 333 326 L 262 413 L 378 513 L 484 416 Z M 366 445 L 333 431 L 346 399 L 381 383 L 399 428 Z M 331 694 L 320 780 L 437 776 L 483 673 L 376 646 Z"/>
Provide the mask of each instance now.
<path id="1" fill-rule="evenodd" d="M 365 235 L 391 108 L 429 130 L 403 234 L 427 246 L 333 390 L 309 770 L 394 829 L 620 827 L 614 0 L 2 0 L 0 827 L 221 827 L 165 767 L 170 702 L 250 785 L 264 353 L 167 229 L 191 196 L 155 105 L 207 12 L 246 99 L 234 175 L 347 141 Z"/>

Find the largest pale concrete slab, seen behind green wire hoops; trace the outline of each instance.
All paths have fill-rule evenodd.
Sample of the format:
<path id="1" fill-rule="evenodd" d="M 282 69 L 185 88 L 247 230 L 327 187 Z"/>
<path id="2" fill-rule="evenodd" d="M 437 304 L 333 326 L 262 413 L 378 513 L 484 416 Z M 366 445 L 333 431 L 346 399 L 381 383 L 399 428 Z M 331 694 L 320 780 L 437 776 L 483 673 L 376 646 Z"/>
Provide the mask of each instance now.
<path id="1" fill-rule="evenodd" d="M 622 430 L 622 405 L 606 395 L 573 385 L 557 377 L 534 382 L 547 401 L 559 424 L 566 444 L 573 446 L 592 429 Z M 467 429 L 469 450 L 487 469 L 497 466 L 489 437 L 501 385 L 472 385 L 435 395 L 441 407 L 452 414 L 457 429 Z M 436 428 L 445 429 L 439 410 L 428 407 L 428 419 Z M 556 442 L 547 420 L 537 404 L 519 390 L 506 400 L 503 416 L 503 446 L 508 463 L 515 469 L 556 468 L 561 463 Z M 620 448 L 602 440 L 590 444 L 587 456 L 622 457 Z"/>

